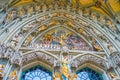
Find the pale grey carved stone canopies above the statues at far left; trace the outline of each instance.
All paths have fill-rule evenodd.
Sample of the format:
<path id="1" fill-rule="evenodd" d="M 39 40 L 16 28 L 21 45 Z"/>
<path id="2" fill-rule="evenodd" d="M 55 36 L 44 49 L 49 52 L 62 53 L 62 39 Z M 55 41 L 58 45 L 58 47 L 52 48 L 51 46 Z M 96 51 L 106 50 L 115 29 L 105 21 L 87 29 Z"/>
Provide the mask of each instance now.
<path id="1" fill-rule="evenodd" d="M 0 58 L 6 58 L 11 63 L 20 65 L 22 63 L 22 52 L 16 52 L 15 49 L 0 44 Z"/>

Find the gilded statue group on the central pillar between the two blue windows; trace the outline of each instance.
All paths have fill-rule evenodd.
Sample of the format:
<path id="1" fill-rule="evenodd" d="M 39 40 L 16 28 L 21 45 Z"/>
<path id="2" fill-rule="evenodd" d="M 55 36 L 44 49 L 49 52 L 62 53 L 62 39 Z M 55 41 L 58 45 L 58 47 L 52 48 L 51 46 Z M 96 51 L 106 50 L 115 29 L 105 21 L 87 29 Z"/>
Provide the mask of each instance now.
<path id="1" fill-rule="evenodd" d="M 60 62 L 60 73 L 56 72 L 53 74 L 53 80 L 77 80 L 77 75 L 71 73 L 70 66 L 68 57 L 65 56 Z"/>

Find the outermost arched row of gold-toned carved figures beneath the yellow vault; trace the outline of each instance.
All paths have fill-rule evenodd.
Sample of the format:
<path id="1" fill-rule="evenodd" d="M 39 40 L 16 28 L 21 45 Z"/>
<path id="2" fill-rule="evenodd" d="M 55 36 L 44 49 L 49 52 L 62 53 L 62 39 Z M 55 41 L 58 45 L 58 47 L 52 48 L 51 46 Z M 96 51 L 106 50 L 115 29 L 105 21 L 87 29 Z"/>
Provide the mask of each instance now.
<path id="1" fill-rule="evenodd" d="M 26 6 L 26 8 L 25 7 L 19 8 L 19 10 L 11 10 L 6 15 L 6 19 L 4 21 L 5 21 L 5 23 L 9 23 L 10 21 L 12 21 L 16 18 L 22 19 L 26 16 L 29 17 L 32 14 L 36 14 L 39 12 L 45 13 L 47 10 L 50 11 L 51 9 L 57 10 L 57 9 L 59 9 L 59 6 L 61 6 L 61 5 L 59 5 L 59 3 L 55 3 L 54 5 L 52 3 L 50 3 L 50 4 L 42 3 L 42 4 L 37 4 L 35 6 L 29 5 L 29 6 Z M 89 9 L 81 9 L 81 8 L 76 9 L 69 4 L 64 5 L 64 7 L 65 7 L 65 9 L 67 9 L 67 11 L 76 10 L 75 12 L 79 13 L 81 16 L 88 17 L 88 19 L 93 20 L 95 23 L 100 24 L 102 27 L 106 26 L 108 29 L 110 29 L 113 32 L 117 31 L 115 24 L 109 18 L 99 15 L 99 13 L 97 13 L 97 12 L 91 12 Z"/>

